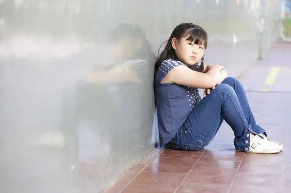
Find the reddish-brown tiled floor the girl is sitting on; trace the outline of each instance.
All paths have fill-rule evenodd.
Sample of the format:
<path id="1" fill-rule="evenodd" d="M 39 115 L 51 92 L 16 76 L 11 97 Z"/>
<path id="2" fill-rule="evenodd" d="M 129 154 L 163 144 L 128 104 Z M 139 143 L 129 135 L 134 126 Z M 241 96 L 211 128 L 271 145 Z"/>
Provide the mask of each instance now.
<path id="1" fill-rule="evenodd" d="M 291 56 L 287 53 L 291 44 L 278 44 L 270 58 L 240 78 L 257 123 L 270 139 L 284 145 L 283 152 L 236 152 L 233 132 L 224 123 L 201 151 L 153 150 L 107 193 L 291 193 Z M 262 92 L 266 88 L 262 80 L 274 65 L 281 68 L 278 77 L 267 87 L 270 92 Z"/>

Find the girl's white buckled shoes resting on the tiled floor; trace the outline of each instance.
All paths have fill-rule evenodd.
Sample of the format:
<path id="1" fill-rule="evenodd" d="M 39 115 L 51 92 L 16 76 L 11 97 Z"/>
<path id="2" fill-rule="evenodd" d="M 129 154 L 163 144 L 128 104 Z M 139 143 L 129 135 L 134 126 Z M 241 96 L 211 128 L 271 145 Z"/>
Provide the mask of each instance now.
<path id="1" fill-rule="evenodd" d="M 283 150 L 281 143 L 268 140 L 264 136 L 255 135 L 249 144 L 249 153 L 257 154 L 275 154 Z"/>

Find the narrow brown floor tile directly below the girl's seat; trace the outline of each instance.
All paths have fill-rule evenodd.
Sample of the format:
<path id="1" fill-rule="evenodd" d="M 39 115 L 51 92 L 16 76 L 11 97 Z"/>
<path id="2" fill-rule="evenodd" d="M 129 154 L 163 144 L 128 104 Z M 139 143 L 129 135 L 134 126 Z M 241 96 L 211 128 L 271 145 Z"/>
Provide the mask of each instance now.
<path id="1" fill-rule="evenodd" d="M 198 159 L 202 153 L 193 151 L 163 151 L 160 158 L 185 158 L 185 159 Z"/>

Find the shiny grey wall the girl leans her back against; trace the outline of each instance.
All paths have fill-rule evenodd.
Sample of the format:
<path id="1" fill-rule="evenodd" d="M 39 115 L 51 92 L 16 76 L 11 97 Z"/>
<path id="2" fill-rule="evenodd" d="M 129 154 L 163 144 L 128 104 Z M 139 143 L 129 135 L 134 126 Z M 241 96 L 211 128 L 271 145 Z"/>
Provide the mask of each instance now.
<path id="1" fill-rule="evenodd" d="M 198 1 L 0 0 L 0 192 L 96 193 L 143 158 L 155 54 L 179 23 L 231 76 L 278 36 L 276 1 Z"/>

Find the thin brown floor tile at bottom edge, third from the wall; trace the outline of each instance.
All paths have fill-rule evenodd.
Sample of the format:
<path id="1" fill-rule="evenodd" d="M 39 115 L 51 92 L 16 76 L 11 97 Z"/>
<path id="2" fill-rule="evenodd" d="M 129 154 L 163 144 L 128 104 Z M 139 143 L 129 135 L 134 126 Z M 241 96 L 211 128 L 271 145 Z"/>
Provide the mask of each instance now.
<path id="1" fill-rule="evenodd" d="M 229 188 L 228 185 L 201 186 L 201 184 L 183 183 L 177 193 L 227 193 Z"/>

